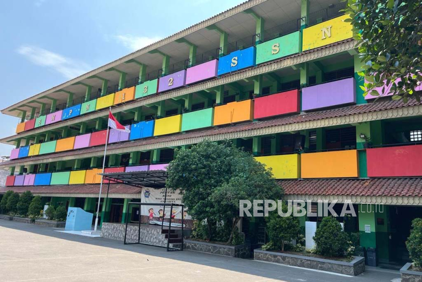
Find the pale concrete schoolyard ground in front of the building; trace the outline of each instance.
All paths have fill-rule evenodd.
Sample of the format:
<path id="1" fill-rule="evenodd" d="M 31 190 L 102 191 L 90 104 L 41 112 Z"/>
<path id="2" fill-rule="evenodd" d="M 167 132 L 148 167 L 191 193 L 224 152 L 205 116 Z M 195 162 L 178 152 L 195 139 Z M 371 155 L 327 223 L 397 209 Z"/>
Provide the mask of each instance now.
<path id="1" fill-rule="evenodd" d="M 0 281 L 400 281 L 397 271 L 356 277 L 193 251 L 166 252 L 0 220 Z"/>

